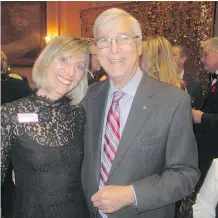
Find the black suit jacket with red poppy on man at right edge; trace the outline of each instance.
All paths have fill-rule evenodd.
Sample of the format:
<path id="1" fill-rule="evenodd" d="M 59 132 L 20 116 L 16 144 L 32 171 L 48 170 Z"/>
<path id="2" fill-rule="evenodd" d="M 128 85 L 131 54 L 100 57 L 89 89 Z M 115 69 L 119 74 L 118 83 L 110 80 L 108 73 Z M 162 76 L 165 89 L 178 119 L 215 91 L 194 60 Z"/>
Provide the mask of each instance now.
<path id="1" fill-rule="evenodd" d="M 200 107 L 201 124 L 195 124 L 199 148 L 199 167 L 205 175 L 214 158 L 218 157 L 218 81 L 210 86 Z"/>

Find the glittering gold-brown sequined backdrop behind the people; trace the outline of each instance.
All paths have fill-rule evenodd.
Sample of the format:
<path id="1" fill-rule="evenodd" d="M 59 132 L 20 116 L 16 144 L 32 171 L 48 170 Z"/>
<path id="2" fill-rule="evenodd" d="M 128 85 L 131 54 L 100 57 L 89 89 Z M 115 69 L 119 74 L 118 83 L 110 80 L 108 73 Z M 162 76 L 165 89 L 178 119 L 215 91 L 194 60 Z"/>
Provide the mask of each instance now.
<path id="1" fill-rule="evenodd" d="M 215 2 L 125 2 L 113 6 L 89 8 L 81 11 L 81 35 L 92 37 L 96 17 L 104 10 L 118 7 L 128 11 L 141 24 L 143 38 L 151 35 L 166 37 L 172 44 L 188 48 L 190 59 L 186 68 L 199 76 L 202 85 L 208 75 L 200 63 L 200 44 L 213 35 Z"/>

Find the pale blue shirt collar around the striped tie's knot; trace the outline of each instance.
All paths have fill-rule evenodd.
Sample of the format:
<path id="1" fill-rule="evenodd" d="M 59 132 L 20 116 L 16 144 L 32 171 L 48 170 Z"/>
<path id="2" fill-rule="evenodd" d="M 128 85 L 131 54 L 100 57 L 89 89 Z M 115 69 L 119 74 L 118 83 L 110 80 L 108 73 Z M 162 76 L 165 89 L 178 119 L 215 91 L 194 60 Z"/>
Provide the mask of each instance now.
<path id="1" fill-rule="evenodd" d="M 122 88 L 122 89 L 117 89 L 112 81 L 110 80 L 110 90 L 109 90 L 109 95 L 112 96 L 115 91 L 121 90 L 125 94 L 130 95 L 132 97 L 135 96 L 136 90 L 138 88 L 138 85 L 141 81 L 143 72 L 141 71 L 140 68 L 136 71 L 136 74 L 134 77 Z"/>

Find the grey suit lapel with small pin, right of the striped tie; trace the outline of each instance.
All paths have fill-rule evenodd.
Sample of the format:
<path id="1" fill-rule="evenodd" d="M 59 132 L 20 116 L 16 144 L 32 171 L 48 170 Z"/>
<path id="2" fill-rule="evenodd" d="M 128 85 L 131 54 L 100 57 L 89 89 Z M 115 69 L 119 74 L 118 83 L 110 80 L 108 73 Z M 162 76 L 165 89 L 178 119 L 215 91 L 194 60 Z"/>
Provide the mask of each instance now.
<path id="1" fill-rule="evenodd" d="M 152 99 L 154 92 L 155 90 L 152 87 L 151 79 L 148 76 L 143 76 L 136 91 L 129 116 L 123 130 L 120 144 L 110 170 L 108 182 L 110 182 L 111 175 L 119 165 L 123 155 L 131 145 L 137 133 L 147 120 L 152 108 L 155 106 L 155 101 Z"/>

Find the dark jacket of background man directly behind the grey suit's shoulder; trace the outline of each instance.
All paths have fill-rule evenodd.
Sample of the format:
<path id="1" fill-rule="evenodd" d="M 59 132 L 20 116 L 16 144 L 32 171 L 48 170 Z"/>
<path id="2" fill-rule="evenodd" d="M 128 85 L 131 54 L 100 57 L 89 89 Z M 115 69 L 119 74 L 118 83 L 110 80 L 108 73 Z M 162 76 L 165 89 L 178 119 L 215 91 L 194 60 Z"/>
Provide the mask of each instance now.
<path id="1" fill-rule="evenodd" d="M 191 76 L 187 72 L 184 73 L 182 79 L 185 83 L 188 94 L 191 96 L 192 107 L 195 109 L 199 109 L 203 99 L 200 80 Z"/>

